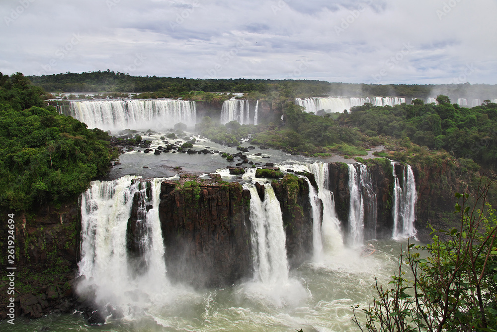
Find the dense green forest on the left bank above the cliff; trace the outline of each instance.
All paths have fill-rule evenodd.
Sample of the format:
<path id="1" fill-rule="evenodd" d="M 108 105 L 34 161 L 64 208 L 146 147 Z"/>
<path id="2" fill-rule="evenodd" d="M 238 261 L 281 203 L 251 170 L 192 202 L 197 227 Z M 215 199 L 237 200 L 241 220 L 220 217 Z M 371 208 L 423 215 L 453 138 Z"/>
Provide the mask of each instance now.
<path id="1" fill-rule="evenodd" d="M 46 106 L 22 74 L 0 73 L 0 206 L 32 211 L 76 199 L 117 158 L 109 135 Z"/>

